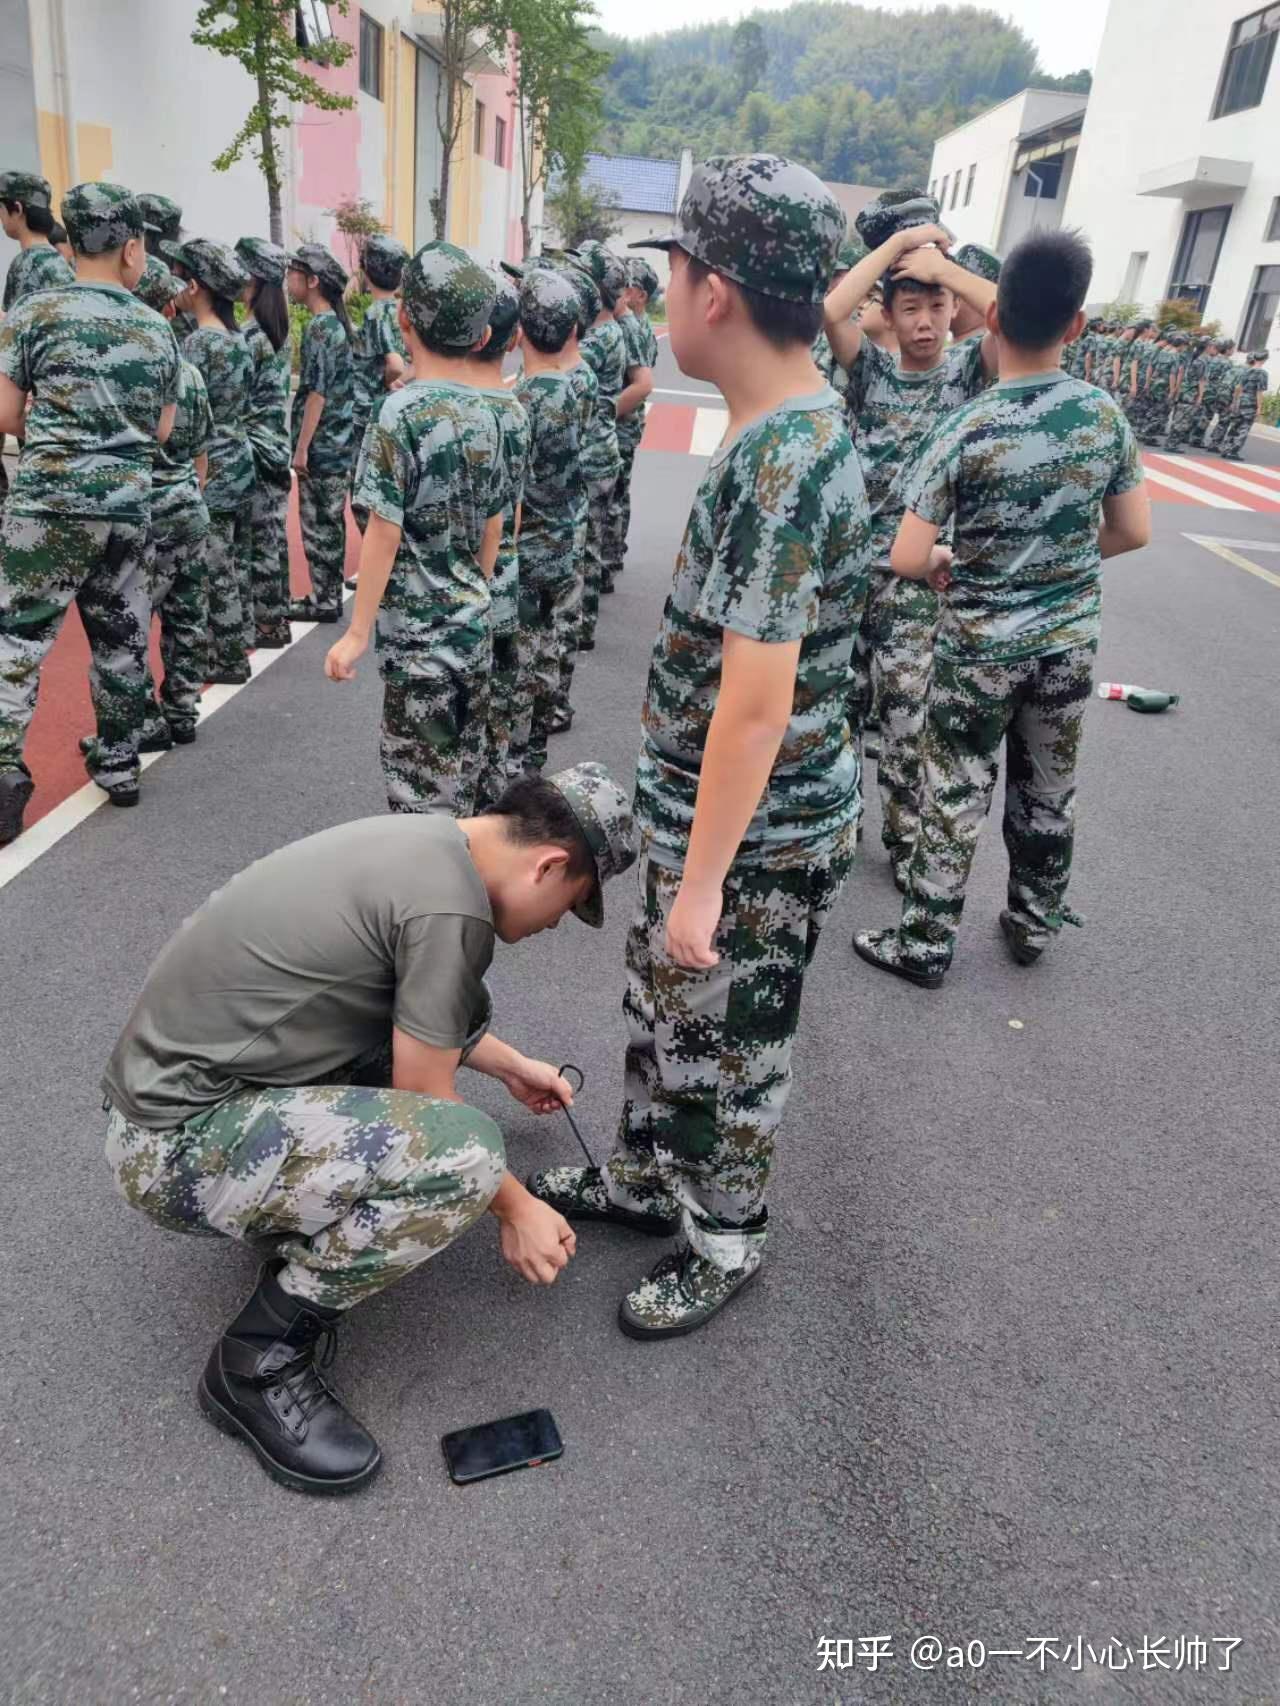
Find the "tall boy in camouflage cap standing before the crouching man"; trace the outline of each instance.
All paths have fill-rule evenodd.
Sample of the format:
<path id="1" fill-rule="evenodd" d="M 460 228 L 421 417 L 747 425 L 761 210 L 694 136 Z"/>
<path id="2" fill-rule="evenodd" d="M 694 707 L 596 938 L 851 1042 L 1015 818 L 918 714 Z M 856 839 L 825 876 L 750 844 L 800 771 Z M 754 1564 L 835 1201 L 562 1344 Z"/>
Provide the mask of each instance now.
<path id="1" fill-rule="evenodd" d="M 531 1189 L 567 1216 L 679 1233 L 620 1309 L 691 1332 L 759 1269 L 804 976 L 845 882 L 858 759 L 845 718 L 869 514 L 840 397 L 812 363 L 843 213 L 775 155 L 695 169 L 667 314 L 729 403 L 654 645 L 637 771 L 640 904 L 618 1146 Z"/>

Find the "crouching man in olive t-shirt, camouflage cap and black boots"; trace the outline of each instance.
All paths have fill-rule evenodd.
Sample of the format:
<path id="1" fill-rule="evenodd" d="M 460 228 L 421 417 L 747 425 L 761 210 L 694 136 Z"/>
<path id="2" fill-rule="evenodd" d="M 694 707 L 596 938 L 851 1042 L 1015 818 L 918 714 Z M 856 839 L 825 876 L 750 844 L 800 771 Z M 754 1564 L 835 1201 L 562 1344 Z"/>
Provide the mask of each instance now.
<path id="1" fill-rule="evenodd" d="M 367 817 L 234 877 L 162 950 L 102 1080 L 108 1160 L 172 1232 L 265 1245 L 258 1288 L 200 1378 L 205 1414 L 287 1486 L 345 1493 L 381 1452 L 326 1385 L 343 1310 L 490 1210 L 550 1285 L 573 1232 L 507 1170 L 461 1065 L 546 1114 L 572 1100 L 488 1030 L 493 938 L 575 913 L 635 860 L 599 764 L 517 781 L 483 817 Z"/>

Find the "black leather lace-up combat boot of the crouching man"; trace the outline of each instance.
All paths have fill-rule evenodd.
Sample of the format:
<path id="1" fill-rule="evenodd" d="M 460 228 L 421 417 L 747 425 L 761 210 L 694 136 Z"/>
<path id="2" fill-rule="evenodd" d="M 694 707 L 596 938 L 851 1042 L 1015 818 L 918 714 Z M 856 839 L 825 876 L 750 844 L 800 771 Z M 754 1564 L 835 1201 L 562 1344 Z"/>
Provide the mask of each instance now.
<path id="1" fill-rule="evenodd" d="M 292 1297 L 263 1268 L 196 1387 L 208 1419 L 246 1440 L 268 1476 L 299 1493 L 353 1493 L 382 1467 L 377 1440 L 321 1375 L 333 1361 L 340 1315 Z"/>

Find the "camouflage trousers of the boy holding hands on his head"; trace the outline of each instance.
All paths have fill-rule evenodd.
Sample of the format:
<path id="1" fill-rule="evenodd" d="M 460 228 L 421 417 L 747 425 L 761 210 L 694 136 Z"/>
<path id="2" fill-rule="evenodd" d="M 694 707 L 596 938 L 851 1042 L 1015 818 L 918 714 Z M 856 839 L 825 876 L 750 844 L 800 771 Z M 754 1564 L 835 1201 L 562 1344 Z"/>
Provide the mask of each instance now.
<path id="1" fill-rule="evenodd" d="M 864 711 L 876 706 L 881 836 L 894 867 L 910 860 L 920 829 L 920 735 L 937 623 L 939 602 L 930 587 L 889 570 L 872 570 L 852 703 L 862 701 Z"/>

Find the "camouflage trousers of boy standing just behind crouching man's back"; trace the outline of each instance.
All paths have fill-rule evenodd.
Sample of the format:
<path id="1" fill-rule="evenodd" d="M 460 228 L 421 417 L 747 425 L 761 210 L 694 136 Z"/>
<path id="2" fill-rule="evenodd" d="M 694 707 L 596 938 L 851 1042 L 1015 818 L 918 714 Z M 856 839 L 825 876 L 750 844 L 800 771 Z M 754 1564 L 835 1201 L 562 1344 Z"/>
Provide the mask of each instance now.
<path id="1" fill-rule="evenodd" d="M 393 812 L 469 817 L 485 768 L 490 635 L 464 659 L 418 659 L 382 681 L 379 756 Z"/>

